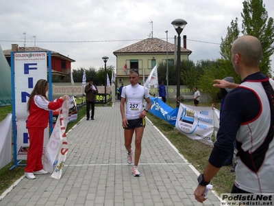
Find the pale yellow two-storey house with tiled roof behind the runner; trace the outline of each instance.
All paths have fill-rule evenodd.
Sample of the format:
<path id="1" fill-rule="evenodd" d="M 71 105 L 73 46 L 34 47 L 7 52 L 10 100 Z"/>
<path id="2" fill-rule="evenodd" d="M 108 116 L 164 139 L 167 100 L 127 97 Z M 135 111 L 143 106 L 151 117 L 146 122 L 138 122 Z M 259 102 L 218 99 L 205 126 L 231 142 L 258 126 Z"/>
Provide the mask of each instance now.
<path id="1" fill-rule="evenodd" d="M 177 39 L 175 39 L 175 43 Z M 186 35 L 183 37 L 183 47 L 181 47 L 181 60 L 188 60 L 192 53 L 186 49 Z M 166 43 L 160 38 L 146 38 L 142 41 L 123 47 L 113 52 L 116 56 L 116 81 L 119 85 L 130 84 L 129 70 L 138 69 L 140 80 L 145 79 L 149 73 L 160 62 L 177 62 L 177 44 Z M 126 69 L 125 69 L 126 68 Z M 127 72 L 125 72 L 127 71 Z M 142 80 L 141 80 L 142 82 Z"/>

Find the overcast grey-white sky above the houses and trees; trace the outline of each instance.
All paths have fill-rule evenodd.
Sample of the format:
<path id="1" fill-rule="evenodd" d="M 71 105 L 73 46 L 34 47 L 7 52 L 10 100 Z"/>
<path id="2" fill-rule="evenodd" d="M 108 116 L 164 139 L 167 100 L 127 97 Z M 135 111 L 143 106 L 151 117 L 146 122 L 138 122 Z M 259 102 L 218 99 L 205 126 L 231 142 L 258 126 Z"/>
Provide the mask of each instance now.
<path id="1" fill-rule="evenodd" d="M 264 4 L 274 18 L 274 1 Z M 236 17 L 240 29 L 242 23 L 242 0 L 0 0 L 0 5 L 3 50 L 13 43 L 36 44 L 75 60 L 73 69 L 103 67 L 103 56 L 109 57 L 107 65 L 116 67 L 113 52 L 149 38 L 151 32 L 166 41 L 168 30 L 169 42 L 174 43 L 175 19 L 188 22 L 181 36 L 187 36 L 190 60 L 220 58 L 221 36 Z"/>

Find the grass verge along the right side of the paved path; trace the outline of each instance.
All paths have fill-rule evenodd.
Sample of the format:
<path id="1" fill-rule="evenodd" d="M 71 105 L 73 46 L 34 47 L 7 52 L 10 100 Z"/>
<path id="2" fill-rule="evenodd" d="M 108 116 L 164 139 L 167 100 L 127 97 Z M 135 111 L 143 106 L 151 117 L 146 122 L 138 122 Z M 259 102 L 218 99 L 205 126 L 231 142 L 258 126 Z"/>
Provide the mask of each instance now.
<path id="1" fill-rule="evenodd" d="M 193 105 L 192 102 L 183 102 L 184 104 Z M 176 104 L 173 102 L 168 102 L 168 104 L 175 108 Z M 212 104 L 199 104 L 199 106 L 212 106 Z M 215 105 L 216 108 L 219 104 Z M 171 143 L 179 150 L 179 152 L 191 163 L 199 172 L 205 170 L 208 163 L 208 157 L 212 148 L 200 141 L 195 141 L 174 130 L 174 126 L 168 122 L 155 117 L 151 113 L 147 114 L 147 117 L 153 122 L 155 126 L 171 141 Z M 231 192 L 232 185 L 235 180 L 235 173 L 230 172 L 232 167 L 225 166 L 214 176 L 210 182 L 214 186 L 214 190 L 217 194 L 229 193 Z"/>

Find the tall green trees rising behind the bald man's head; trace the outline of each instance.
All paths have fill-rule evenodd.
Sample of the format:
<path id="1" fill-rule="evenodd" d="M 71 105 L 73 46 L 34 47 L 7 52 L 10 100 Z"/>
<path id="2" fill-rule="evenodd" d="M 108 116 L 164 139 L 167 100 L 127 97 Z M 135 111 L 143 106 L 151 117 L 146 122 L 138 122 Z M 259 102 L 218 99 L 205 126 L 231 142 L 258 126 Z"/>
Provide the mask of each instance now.
<path id="1" fill-rule="evenodd" d="M 262 43 L 262 60 L 260 70 L 266 75 L 271 73 L 271 55 L 274 52 L 274 25 L 273 18 L 269 18 L 262 0 L 245 0 L 243 3 L 242 31 L 243 35 L 256 36 Z M 232 43 L 240 35 L 238 19 L 231 22 L 227 27 L 227 36 L 221 38 L 221 56 L 223 60 L 230 60 Z"/>

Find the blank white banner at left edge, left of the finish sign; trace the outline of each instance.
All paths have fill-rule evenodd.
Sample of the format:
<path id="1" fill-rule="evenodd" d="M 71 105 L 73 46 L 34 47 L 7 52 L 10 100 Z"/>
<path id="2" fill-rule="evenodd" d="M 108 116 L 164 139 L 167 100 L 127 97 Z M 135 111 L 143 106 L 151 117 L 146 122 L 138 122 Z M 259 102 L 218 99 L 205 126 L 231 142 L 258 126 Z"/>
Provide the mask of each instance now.
<path id="1" fill-rule="evenodd" d="M 0 122 L 0 169 L 12 161 L 12 114 Z"/>

